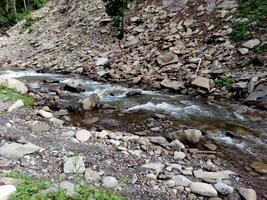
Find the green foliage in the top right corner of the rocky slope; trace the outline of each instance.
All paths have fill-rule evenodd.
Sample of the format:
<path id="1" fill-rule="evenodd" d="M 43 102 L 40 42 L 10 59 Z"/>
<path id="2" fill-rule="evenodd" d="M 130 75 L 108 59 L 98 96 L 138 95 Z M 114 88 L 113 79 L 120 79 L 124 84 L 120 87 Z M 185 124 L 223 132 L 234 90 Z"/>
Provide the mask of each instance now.
<path id="1" fill-rule="evenodd" d="M 266 0 L 240 0 L 237 17 L 233 25 L 231 38 L 235 42 L 247 39 L 252 31 L 261 33 L 267 27 L 267 1 Z"/>

